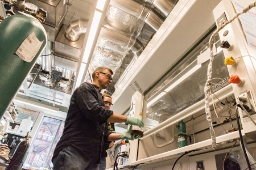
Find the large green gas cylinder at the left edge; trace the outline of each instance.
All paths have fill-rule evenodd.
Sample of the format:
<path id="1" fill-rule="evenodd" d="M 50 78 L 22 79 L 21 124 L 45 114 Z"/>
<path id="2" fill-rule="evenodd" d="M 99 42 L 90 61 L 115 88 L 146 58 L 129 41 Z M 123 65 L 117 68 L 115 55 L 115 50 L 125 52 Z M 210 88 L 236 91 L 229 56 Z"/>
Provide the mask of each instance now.
<path id="1" fill-rule="evenodd" d="M 30 45 L 30 50 L 35 51 L 35 57 L 27 62 L 15 52 L 23 41 L 28 41 L 28 36 L 34 34 L 42 44 L 38 45 L 38 48 L 35 48 L 36 45 L 34 44 L 32 47 Z M 18 93 L 46 43 L 47 34 L 43 25 L 31 15 L 8 16 L 0 23 L 0 118 Z"/>

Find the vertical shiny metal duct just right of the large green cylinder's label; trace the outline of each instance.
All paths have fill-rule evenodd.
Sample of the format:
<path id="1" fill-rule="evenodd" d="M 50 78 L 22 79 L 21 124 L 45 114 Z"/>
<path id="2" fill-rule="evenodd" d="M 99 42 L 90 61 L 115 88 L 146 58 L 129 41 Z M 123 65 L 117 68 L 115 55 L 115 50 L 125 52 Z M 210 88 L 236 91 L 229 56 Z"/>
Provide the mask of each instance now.
<path id="1" fill-rule="evenodd" d="M 53 66 L 52 57 L 53 42 L 47 41 L 46 48 L 42 52 L 42 70 L 51 73 Z"/>

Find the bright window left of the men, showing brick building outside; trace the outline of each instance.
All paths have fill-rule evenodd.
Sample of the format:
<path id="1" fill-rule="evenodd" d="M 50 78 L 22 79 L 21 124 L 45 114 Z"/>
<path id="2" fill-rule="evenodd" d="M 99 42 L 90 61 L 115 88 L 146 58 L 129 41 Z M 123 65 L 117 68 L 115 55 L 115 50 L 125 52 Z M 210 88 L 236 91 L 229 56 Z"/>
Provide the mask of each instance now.
<path id="1" fill-rule="evenodd" d="M 34 143 L 31 143 L 23 168 L 44 169 L 48 166 L 51 167 L 52 154 L 63 129 L 64 121 L 44 117 L 39 128 L 39 131 L 44 131 L 44 133 L 38 133 Z"/>

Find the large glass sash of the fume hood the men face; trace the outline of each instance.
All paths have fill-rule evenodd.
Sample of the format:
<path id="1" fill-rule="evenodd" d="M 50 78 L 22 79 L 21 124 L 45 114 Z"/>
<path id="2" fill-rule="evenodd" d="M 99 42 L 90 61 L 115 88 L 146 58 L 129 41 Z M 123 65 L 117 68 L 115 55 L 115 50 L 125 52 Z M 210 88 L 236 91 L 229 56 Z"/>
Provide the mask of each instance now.
<path id="1" fill-rule="evenodd" d="M 209 59 L 206 62 L 197 63 L 197 57 L 209 53 L 210 35 L 145 94 L 144 100 L 147 103 L 147 111 L 144 130 L 154 128 L 204 99 Z M 216 92 L 229 84 L 228 69 L 224 65 L 224 53 L 222 49 L 218 48 L 220 46 L 219 37 L 215 39 L 215 46 L 217 50 L 213 61 L 212 92 Z"/>

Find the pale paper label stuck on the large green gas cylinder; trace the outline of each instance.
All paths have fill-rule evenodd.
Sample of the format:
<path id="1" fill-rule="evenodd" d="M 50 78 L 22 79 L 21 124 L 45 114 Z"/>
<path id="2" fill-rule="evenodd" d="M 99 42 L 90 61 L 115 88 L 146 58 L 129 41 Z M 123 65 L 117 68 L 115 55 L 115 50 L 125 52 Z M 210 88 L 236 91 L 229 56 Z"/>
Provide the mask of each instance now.
<path id="1" fill-rule="evenodd" d="M 15 53 L 24 61 L 31 62 L 35 55 L 38 53 L 43 42 L 44 41 L 41 42 L 38 40 L 35 32 L 32 32 L 31 35 L 22 42 Z"/>

